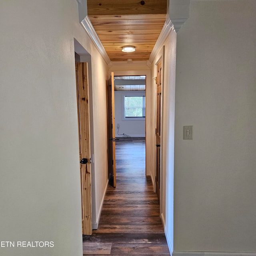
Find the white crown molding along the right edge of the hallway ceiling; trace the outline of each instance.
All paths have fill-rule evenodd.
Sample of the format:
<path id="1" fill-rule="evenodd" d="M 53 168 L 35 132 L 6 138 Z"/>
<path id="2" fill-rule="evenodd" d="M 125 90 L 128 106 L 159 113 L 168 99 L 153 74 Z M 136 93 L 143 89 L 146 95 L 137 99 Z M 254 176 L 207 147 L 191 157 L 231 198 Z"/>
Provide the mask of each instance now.
<path id="1" fill-rule="evenodd" d="M 166 21 L 164 22 L 164 26 L 160 32 L 160 35 L 156 41 L 156 44 L 150 54 L 149 62 L 152 63 L 154 61 L 154 58 L 158 54 L 159 50 L 162 48 L 164 42 L 168 38 L 170 32 L 174 30 L 174 24 L 169 18 L 166 18 Z"/>

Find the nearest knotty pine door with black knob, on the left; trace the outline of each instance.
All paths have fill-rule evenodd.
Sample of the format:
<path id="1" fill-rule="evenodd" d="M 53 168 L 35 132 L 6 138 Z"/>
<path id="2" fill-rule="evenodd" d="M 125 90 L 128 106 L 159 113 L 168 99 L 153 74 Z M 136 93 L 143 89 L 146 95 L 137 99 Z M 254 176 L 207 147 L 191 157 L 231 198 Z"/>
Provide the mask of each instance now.
<path id="1" fill-rule="evenodd" d="M 92 234 L 92 178 L 90 174 L 90 115 L 87 74 L 87 63 L 76 63 L 83 235 Z"/>

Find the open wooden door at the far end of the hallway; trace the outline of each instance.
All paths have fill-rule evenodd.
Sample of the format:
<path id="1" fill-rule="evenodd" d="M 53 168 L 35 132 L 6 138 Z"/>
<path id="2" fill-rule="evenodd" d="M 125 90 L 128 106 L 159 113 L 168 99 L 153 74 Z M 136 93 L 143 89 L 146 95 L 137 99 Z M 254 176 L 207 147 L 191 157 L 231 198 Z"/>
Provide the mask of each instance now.
<path id="1" fill-rule="evenodd" d="M 111 72 L 108 85 L 108 172 L 110 185 L 116 187 L 116 132 L 115 132 L 115 97 L 114 97 L 114 72 Z"/>

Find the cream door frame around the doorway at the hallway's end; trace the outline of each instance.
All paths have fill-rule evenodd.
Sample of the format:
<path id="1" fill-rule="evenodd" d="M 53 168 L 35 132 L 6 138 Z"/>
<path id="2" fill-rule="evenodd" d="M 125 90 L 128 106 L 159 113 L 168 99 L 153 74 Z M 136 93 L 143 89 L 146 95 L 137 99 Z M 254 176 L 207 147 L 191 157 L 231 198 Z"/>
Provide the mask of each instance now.
<path id="1" fill-rule="evenodd" d="M 146 127 L 145 127 L 145 140 L 146 140 L 146 176 L 151 176 L 151 70 L 109 70 L 108 76 L 110 78 L 111 72 L 114 72 L 114 76 L 140 76 L 146 75 Z"/>

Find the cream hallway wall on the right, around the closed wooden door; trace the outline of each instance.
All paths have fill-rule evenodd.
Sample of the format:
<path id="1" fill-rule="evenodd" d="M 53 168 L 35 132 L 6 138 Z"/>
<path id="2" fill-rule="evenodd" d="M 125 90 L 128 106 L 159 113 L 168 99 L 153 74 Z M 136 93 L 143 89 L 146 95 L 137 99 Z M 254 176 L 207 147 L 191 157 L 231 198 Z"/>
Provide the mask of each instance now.
<path id="1" fill-rule="evenodd" d="M 176 66 L 176 32 L 171 30 L 166 42 L 163 44 L 152 62 L 152 77 L 156 74 L 156 63 L 162 56 L 162 70 L 164 79 L 162 84 L 162 175 L 160 177 L 160 215 L 164 224 L 166 240 L 169 250 L 173 250 L 173 198 L 174 198 L 174 103 L 175 103 L 175 66 Z M 154 83 L 155 84 L 155 83 Z M 156 158 L 156 135 L 153 132 L 156 128 L 156 85 L 152 86 L 152 150 L 151 150 L 151 176 L 154 183 L 155 158 Z M 153 114 L 154 113 L 154 114 Z"/>

